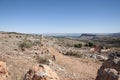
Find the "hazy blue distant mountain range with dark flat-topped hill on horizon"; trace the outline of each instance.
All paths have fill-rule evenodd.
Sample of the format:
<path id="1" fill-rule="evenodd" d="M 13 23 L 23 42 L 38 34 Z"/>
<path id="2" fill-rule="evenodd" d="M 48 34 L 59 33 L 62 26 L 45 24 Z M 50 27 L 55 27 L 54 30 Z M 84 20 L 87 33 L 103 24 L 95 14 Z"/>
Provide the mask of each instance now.
<path id="1" fill-rule="evenodd" d="M 120 33 L 48 33 L 45 36 L 55 37 L 77 37 L 77 38 L 102 38 L 102 37 L 120 37 Z"/>

